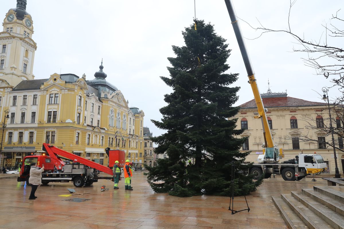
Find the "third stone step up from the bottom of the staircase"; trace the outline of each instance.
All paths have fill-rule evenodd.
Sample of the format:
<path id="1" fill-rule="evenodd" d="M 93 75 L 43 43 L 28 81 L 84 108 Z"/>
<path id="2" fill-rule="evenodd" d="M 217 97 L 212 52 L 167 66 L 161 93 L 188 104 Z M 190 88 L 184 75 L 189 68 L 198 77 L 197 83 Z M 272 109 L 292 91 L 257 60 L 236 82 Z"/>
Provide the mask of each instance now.
<path id="1" fill-rule="evenodd" d="M 301 202 L 305 207 L 311 209 L 313 213 L 325 220 L 333 228 L 344 229 L 344 218 L 342 215 L 315 201 L 311 197 L 303 195 L 301 192 L 291 192 L 291 195 Z"/>

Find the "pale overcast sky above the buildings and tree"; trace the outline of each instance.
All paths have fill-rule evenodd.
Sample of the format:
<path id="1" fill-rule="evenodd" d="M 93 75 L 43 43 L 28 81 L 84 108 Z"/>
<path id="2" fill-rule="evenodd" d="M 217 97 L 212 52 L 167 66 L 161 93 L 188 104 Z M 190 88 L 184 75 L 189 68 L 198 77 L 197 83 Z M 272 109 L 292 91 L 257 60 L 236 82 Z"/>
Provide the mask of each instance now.
<path id="1" fill-rule="evenodd" d="M 259 19 L 269 28 L 288 27 L 287 0 L 233 0 L 233 4 L 237 16 L 253 26 L 259 25 Z M 15 7 L 16 0 L 1 0 L 3 18 Z M 328 23 L 340 8 L 341 0 L 299 0 L 291 11 L 291 30 L 306 39 L 318 40 L 324 31 L 321 24 Z M 27 0 L 26 10 L 32 16 L 32 38 L 37 43 L 35 79 L 49 78 L 60 70 L 79 77 L 85 73 L 86 79 L 94 79 L 103 58 L 106 80 L 121 90 L 129 106 L 144 111 L 144 126 L 153 135 L 164 133 L 150 122 L 160 120 L 159 109 L 166 105 L 163 95 L 171 92 L 159 76 L 169 76 L 167 57 L 174 56 L 171 46 L 184 44 L 181 32 L 193 23 L 194 0 Z M 342 18 L 343 14 L 340 11 Z M 196 17 L 214 24 L 217 34 L 227 39 L 232 49 L 229 72 L 240 73 L 233 85 L 241 87 L 236 105 L 253 99 L 225 2 L 196 0 Z M 244 37 L 258 36 L 244 22 L 240 21 L 240 25 Z M 303 65 L 301 58 L 306 56 L 292 52 L 293 42 L 283 33 L 246 40 L 259 90 L 268 90 L 269 79 L 273 92 L 287 90 L 288 96 L 322 102 L 317 92 L 331 84 Z M 329 91 L 330 97 L 338 93 Z"/>

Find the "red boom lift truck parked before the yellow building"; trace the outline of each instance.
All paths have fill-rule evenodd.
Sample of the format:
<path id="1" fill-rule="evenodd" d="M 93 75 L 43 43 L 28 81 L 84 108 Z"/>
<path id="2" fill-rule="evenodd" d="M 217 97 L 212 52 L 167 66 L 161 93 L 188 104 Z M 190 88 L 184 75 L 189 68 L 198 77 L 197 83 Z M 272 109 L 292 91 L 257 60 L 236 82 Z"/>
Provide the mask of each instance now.
<path id="1" fill-rule="evenodd" d="M 43 143 L 42 149 L 47 155 L 43 153 L 42 155 L 31 155 L 23 158 L 18 182 L 26 181 L 27 185 L 31 185 L 29 184 L 29 177 L 32 163 L 36 163 L 37 167 L 44 165 L 42 184 L 72 181 L 75 187 L 92 185 L 93 182 L 98 182 L 98 179 L 110 180 L 112 176 L 98 176 L 99 173 L 96 170 L 113 175 L 112 167 L 115 161 L 119 161 L 119 167 L 123 167 L 125 164 L 125 152 L 123 150 L 106 148 L 105 152 L 109 157 L 109 167 L 106 167 L 47 143 Z M 66 164 L 62 159 L 72 163 Z"/>

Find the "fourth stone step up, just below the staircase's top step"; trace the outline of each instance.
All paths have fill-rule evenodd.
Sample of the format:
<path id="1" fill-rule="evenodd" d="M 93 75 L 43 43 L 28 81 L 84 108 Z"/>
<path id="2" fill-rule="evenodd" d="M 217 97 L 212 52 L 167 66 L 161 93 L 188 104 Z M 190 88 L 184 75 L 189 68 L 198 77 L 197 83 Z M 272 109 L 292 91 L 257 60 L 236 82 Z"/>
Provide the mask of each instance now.
<path id="1" fill-rule="evenodd" d="M 344 203 L 337 201 L 327 195 L 315 192 L 313 188 L 303 188 L 302 193 L 314 199 L 315 201 L 325 205 L 328 208 L 331 208 L 338 214 L 344 216 Z"/>

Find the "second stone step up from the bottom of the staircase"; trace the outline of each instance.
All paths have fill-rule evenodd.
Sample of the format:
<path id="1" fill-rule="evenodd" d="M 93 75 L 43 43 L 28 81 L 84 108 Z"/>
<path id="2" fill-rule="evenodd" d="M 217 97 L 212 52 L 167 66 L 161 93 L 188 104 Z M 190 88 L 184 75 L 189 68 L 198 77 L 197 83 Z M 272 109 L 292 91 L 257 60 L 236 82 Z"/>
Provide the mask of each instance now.
<path id="1" fill-rule="evenodd" d="M 333 228 L 325 220 L 313 213 L 309 208 L 300 203 L 291 194 L 281 194 L 284 202 L 300 217 L 300 219 L 311 229 Z"/>

